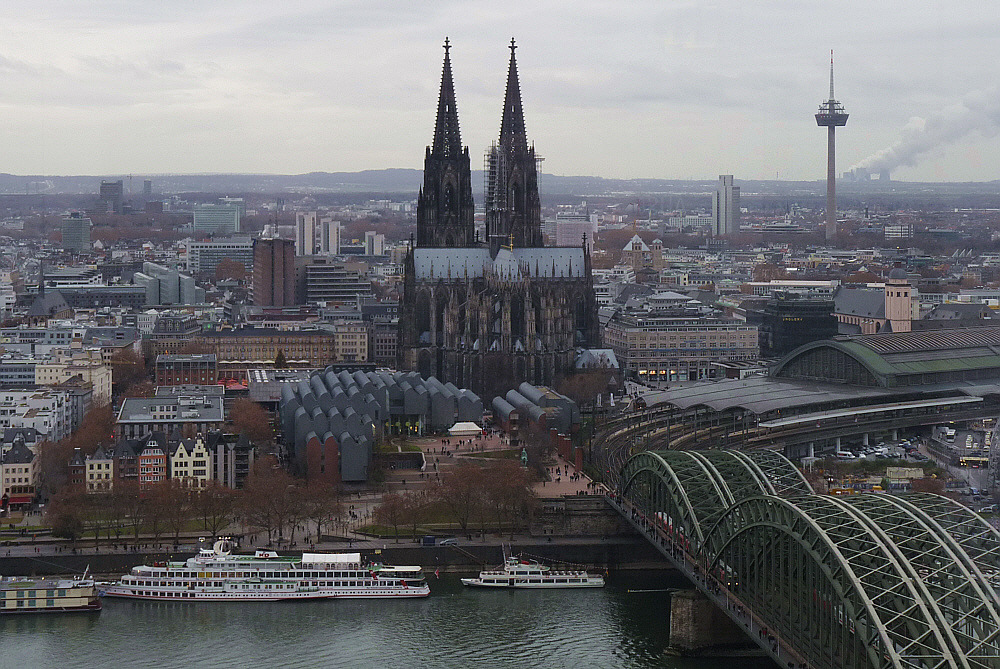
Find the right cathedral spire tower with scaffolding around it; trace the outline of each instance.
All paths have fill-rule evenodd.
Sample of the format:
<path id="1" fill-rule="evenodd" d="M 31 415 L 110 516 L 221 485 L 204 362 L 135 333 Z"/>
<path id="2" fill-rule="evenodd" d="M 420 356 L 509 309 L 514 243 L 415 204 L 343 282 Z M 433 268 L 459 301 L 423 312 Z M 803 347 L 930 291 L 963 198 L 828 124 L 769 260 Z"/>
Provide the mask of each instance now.
<path id="1" fill-rule="evenodd" d="M 521 108 L 521 85 L 517 61 L 510 41 L 510 67 L 500 142 L 487 153 L 486 230 L 490 254 L 496 257 L 501 246 L 542 246 L 542 204 L 538 197 L 538 163 L 535 147 L 528 146 Z"/>

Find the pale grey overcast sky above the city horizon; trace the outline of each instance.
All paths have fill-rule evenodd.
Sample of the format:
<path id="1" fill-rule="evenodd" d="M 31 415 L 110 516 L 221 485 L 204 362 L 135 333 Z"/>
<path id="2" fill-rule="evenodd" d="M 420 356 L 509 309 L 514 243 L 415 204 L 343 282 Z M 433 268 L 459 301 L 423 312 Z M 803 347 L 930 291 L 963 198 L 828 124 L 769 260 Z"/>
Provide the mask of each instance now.
<path id="1" fill-rule="evenodd" d="M 1000 179 L 983 0 L 7 0 L 0 25 L 14 174 L 420 168 L 447 36 L 474 169 L 514 37 L 545 172 L 822 179 L 832 48 L 838 172 Z"/>

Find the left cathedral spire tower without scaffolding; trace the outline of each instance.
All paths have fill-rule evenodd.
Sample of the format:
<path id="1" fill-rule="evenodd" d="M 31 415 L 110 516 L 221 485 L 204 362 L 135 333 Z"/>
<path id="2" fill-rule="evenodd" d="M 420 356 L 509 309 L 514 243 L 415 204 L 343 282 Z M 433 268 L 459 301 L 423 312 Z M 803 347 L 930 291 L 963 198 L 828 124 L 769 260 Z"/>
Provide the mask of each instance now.
<path id="1" fill-rule="evenodd" d="M 434 141 L 424 154 L 424 185 L 417 196 L 417 246 L 469 247 L 476 243 L 469 148 L 462 146 L 451 78 L 450 45 L 444 41 L 444 69 Z"/>

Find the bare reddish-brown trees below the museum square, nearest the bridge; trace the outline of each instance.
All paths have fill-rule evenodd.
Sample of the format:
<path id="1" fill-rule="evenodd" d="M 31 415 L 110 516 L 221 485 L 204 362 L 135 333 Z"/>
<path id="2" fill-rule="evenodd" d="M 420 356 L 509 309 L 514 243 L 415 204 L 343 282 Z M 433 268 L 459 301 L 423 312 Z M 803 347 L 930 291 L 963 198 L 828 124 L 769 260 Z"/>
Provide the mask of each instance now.
<path id="1" fill-rule="evenodd" d="M 527 526 L 535 505 L 532 472 L 514 460 L 500 459 L 483 467 L 463 463 L 440 482 L 424 490 L 386 493 L 375 508 L 375 521 L 393 528 L 399 541 L 400 527 L 413 536 L 428 522 L 457 523 L 465 534 L 478 527 L 513 535 Z"/>

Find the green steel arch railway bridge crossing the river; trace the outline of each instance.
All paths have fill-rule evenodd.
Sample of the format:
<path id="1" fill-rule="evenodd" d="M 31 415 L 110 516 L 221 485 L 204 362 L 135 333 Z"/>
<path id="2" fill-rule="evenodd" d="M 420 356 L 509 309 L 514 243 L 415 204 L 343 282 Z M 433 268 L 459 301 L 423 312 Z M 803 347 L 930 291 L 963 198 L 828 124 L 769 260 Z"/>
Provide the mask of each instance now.
<path id="1" fill-rule="evenodd" d="M 1000 533 L 931 494 L 815 494 L 766 450 L 646 451 L 608 501 L 779 666 L 1000 668 Z"/>

